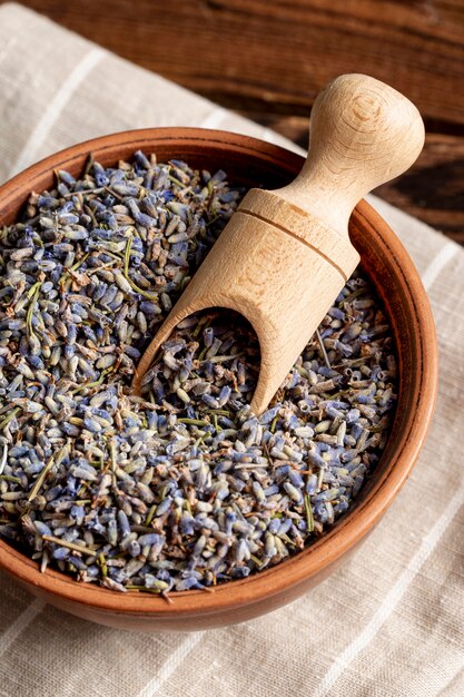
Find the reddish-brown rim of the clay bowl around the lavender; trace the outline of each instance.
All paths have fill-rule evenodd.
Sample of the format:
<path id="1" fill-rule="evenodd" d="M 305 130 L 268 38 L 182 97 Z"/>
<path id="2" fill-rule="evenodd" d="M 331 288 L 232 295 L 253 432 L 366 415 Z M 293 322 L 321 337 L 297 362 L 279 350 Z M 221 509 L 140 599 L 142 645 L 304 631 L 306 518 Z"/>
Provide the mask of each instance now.
<path id="1" fill-rule="evenodd" d="M 147 145 L 160 145 L 168 141 L 178 144 L 185 140 L 199 146 L 204 143 L 226 151 L 229 146 L 233 146 L 237 151 L 243 150 L 244 154 L 256 153 L 260 158 L 272 158 L 274 165 L 278 161 L 287 169 L 297 169 L 303 164 L 303 158 L 290 150 L 257 138 L 223 130 L 178 127 L 127 130 L 92 138 L 62 149 L 12 177 L 0 187 L 0 216 L 2 215 L 2 198 L 22 193 L 26 197 L 30 192 L 28 181 L 40 174 L 66 167 L 70 160 L 79 159 L 90 151 L 101 153 L 105 149 L 113 149 L 117 145 L 127 147 L 131 143 L 140 146 L 145 140 Z M 401 259 L 398 266 L 404 278 L 407 279 L 409 295 L 415 305 L 416 321 L 424 327 L 424 331 L 419 336 L 422 375 L 418 396 L 421 399 L 417 399 L 417 408 L 408 423 L 411 436 L 405 440 L 402 451 L 395 452 L 393 464 L 387 465 L 384 475 L 352 513 L 340 519 L 338 524 L 320 540 L 284 562 L 246 579 L 217 586 L 214 592 L 190 590 L 172 593 L 171 605 L 148 593 L 117 593 L 93 585 L 79 583 L 55 570 L 40 573 L 36 562 L 3 540 L 0 540 L 0 569 L 50 597 L 60 597 L 68 602 L 108 610 L 116 615 L 159 616 L 167 619 L 169 615 L 205 617 L 219 610 L 253 605 L 265 597 L 280 595 L 304 579 L 320 572 L 354 547 L 383 516 L 411 474 L 433 415 L 438 369 L 432 310 L 407 252 L 387 223 L 365 200 L 356 206 L 354 219 L 363 220 L 363 224 L 367 225 L 371 228 L 369 232 L 376 236 L 376 242 L 387 247 L 391 255 Z M 427 337 L 427 345 L 425 345 L 425 337 Z"/>

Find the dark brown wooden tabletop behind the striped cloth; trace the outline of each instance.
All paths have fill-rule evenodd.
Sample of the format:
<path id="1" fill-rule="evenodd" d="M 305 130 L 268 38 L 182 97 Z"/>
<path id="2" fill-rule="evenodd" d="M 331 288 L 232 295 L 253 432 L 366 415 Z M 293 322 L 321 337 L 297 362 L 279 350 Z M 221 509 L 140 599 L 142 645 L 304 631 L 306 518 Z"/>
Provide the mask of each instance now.
<path id="1" fill-rule="evenodd" d="M 464 244 L 464 0 L 26 0 L 55 21 L 307 145 L 310 105 L 367 72 L 427 128 L 385 199 Z"/>

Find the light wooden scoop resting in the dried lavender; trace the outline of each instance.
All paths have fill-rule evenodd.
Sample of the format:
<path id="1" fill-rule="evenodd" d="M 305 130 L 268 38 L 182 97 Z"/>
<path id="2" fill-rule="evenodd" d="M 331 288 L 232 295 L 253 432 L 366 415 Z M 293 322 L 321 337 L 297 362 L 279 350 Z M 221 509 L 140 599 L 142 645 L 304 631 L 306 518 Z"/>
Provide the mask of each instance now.
<path id="1" fill-rule="evenodd" d="M 348 219 L 371 189 L 405 171 L 424 144 L 416 107 L 364 75 L 344 75 L 314 104 L 297 178 L 251 189 L 144 354 L 132 387 L 176 325 L 207 307 L 244 315 L 260 345 L 251 410 L 260 414 L 359 262 Z"/>

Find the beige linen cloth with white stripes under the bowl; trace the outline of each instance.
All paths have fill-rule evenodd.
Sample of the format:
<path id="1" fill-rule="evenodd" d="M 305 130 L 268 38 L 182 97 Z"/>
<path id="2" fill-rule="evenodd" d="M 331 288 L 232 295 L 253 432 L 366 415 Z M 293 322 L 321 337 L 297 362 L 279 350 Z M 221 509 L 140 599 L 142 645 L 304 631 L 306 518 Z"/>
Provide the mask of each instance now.
<path id="1" fill-rule="evenodd" d="M 72 143 L 161 125 L 284 143 L 32 12 L 0 8 L 0 180 Z M 431 435 L 375 532 L 293 605 L 190 635 L 91 625 L 0 576 L 0 695 L 464 695 L 464 252 L 378 199 L 375 205 L 422 274 L 441 347 Z"/>

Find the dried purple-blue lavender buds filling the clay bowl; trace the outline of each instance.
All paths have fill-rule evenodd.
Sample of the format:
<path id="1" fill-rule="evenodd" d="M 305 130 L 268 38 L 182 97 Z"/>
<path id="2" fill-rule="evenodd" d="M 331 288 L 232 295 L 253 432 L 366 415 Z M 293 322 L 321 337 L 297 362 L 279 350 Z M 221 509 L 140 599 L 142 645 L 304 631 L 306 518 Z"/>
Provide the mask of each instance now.
<path id="1" fill-rule="evenodd" d="M 184 321 L 130 394 L 241 193 L 136 153 L 59 171 L 0 233 L 0 534 L 42 570 L 162 596 L 244 578 L 320 537 L 378 461 L 396 369 L 358 273 L 259 419 L 231 313 Z"/>

